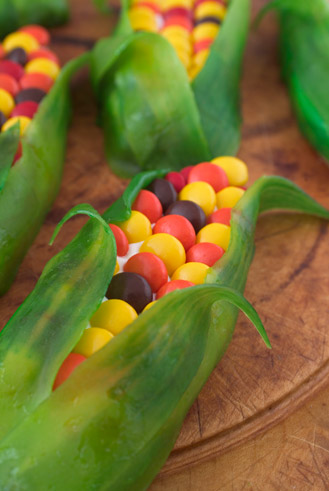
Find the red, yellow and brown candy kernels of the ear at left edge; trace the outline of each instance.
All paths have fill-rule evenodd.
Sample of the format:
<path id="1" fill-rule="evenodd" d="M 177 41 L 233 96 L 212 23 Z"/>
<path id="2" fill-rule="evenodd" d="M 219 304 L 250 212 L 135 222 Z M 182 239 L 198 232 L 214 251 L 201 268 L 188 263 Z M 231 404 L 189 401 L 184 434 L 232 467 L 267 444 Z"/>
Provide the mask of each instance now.
<path id="1" fill-rule="evenodd" d="M 0 44 L 0 128 L 19 122 L 21 136 L 38 105 L 57 78 L 60 65 L 49 48 L 50 36 L 41 26 L 28 25 Z M 19 149 L 15 160 L 21 155 Z"/>

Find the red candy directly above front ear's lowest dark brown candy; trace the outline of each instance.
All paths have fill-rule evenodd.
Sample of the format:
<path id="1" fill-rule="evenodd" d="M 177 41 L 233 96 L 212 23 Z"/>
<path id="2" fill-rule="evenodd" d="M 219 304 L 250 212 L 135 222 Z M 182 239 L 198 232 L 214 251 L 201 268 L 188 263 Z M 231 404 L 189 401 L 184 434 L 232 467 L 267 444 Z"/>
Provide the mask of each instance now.
<path id="1" fill-rule="evenodd" d="M 126 273 L 137 273 L 149 283 L 153 292 L 157 292 L 168 281 L 167 268 L 158 256 L 151 252 L 139 252 L 124 265 Z"/>

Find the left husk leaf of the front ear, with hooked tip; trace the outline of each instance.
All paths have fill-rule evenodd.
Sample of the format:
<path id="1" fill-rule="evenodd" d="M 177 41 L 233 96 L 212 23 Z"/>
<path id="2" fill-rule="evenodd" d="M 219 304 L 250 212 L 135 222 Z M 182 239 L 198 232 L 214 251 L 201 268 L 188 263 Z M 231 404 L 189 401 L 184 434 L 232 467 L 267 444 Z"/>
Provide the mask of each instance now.
<path id="1" fill-rule="evenodd" d="M 52 241 L 76 214 L 91 220 L 47 263 L 32 293 L 0 333 L 0 439 L 49 396 L 60 365 L 104 298 L 113 274 L 114 237 L 90 205 L 73 208 Z"/>

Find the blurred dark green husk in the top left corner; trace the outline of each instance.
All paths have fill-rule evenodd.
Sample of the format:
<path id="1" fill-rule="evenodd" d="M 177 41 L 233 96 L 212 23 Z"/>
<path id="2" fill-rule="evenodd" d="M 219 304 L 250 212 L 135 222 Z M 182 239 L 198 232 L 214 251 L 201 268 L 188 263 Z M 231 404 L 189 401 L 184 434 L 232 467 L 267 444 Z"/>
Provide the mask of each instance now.
<path id="1" fill-rule="evenodd" d="M 52 27 L 69 18 L 67 0 L 0 0 L 0 36 L 27 24 Z"/>

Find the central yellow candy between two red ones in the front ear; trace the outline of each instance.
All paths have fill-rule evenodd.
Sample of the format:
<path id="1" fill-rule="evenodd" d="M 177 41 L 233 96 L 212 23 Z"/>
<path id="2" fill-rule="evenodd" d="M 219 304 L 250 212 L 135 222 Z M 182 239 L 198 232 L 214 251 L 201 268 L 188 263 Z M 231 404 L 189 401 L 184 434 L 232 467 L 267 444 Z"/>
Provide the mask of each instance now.
<path id="1" fill-rule="evenodd" d="M 162 259 L 169 276 L 186 260 L 182 243 L 169 234 L 154 234 L 148 237 L 141 245 L 140 252 L 151 252 Z"/>

